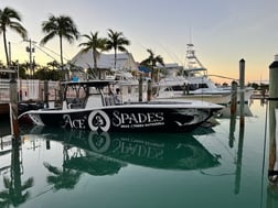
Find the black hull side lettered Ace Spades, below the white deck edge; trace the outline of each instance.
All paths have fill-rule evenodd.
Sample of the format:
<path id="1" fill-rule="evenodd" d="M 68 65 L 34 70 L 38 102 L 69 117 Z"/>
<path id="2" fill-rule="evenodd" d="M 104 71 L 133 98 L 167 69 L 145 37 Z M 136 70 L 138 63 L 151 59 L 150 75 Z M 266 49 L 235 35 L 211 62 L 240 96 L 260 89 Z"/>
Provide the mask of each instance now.
<path id="1" fill-rule="evenodd" d="M 213 116 L 217 108 L 99 108 L 90 110 L 28 111 L 20 121 L 34 124 L 88 129 L 92 131 L 182 131 L 190 132 Z"/>

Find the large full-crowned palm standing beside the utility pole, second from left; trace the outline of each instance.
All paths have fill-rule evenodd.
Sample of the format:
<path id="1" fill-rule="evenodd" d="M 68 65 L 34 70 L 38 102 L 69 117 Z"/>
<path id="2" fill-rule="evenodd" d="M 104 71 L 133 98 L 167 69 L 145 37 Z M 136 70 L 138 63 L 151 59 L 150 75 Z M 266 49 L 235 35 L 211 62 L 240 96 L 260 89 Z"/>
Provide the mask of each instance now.
<path id="1" fill-rule="evenodd" d="M 46 33 L 46 35 L 41 41 L 42 45 L 46 44 L 54 36 L 58 36 L 61 67 L 63 69 L 63 37 L 66 39 L 70 43 L 73 43 L 73 41 L 77 40 L 79 36 L 79 32 L 77 31 L 74 21 L 66 15 L 51 15 L 47 21 L 44 21 L 42 23 L 42 31 Z"/>

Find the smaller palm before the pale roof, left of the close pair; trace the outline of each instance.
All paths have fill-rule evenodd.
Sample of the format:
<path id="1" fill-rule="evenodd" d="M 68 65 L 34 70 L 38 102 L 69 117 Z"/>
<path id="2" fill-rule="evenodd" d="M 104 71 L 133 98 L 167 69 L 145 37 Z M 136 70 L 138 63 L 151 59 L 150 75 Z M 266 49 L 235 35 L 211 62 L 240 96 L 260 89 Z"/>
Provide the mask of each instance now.
<path id="1" fill-rule="evenodd" d="M 103 51 L 106 50 L 106 39 L 98 37 L 98 32 L 90 32 L 89 35 L 83 35 L 87 39 L 87 42 L 81 43 L 79 46 L 83 46 L 82 53 L 87 53 L 92 50 L 92 57 L 94 62 L 94 70 L 97 70 L 97 57 Z M 99 51 L 98 51 L 99 50 Z M 98 72 L 98 78 L 100 79 L 100 70 Z"/>

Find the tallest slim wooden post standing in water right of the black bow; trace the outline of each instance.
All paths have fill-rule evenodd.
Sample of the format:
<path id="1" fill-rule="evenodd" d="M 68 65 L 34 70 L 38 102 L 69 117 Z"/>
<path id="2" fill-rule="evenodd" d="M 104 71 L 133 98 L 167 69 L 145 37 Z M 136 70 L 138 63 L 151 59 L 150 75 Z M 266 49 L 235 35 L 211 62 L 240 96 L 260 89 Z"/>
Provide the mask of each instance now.
<path id="1" fill-rule="evenodd" d="M 245 99 L 244 99 L 244 88 L 245 88 L 245 61 L 240 59 L 239 61 L 239 88 L 240 88 L 240 99 L 239 99 L 239 108 L 240 108 L 240 125 L 244 125 L 244 105 L 245 105 Z"/>

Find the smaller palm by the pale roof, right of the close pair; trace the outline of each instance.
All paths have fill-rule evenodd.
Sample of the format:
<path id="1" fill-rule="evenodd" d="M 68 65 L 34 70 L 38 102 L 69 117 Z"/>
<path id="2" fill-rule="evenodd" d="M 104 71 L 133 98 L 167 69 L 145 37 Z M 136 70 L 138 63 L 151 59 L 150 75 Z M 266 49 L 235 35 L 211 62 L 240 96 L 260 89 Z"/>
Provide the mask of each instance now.
<path id="1" fill-rule="evenodd" d="M 127 52 L 125 45 L 130 45 L 130 41 L 128 41 L 122 32 L 116 32 L 111 29 L 108 30 L 108 39 L 106 41 L 106 50 L 114 50 L 115 59 L 114 59 L 114 68 L 116 68 L 117 61 L 117 50 L 120 52 Z"/>

